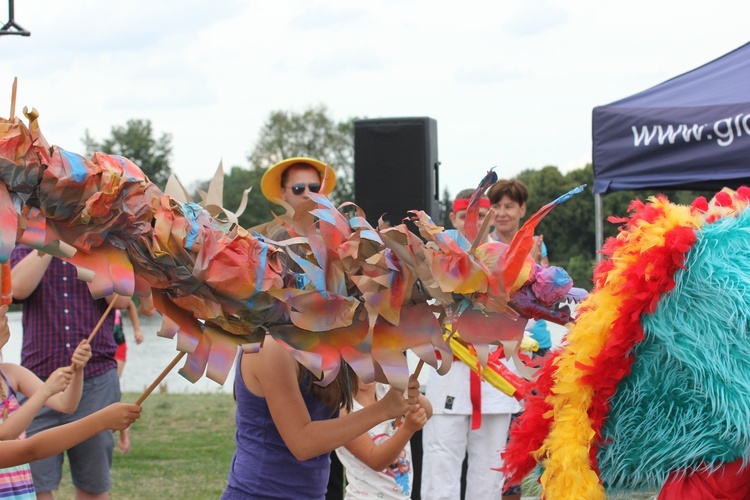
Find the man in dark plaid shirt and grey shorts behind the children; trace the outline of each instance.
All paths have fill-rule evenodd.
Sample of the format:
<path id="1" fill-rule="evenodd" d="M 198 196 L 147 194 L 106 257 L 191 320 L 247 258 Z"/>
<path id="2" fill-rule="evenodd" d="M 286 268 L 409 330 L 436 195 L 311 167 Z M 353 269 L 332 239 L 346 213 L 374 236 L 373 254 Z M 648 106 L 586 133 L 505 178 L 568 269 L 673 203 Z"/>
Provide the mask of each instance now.
<path id="1" fill-rule="evenodd" d="M 70 364 L 76 346 L 88 338 L 111 298 L 94 300 L 88 286 L 78 280 L 75 266 L 23 245 L 13 251 L 11 265 L 13 299 L 23 305 L 21 365 L 44 380 Z M 119 297 L 115 307 L 127 307 L 129 300 Z M 84 369 L 83 395 L 76 411 L 66 415 L 44 407 L 27 435 L 78 420 L 120 400 L 113 324 L 114 312 L 91 342 L 93 355 Z M 67 451 L 76 498 L 108 498 L 113 449 L 112 432 L 106 431 Z M 54 498 L 62 464 L 63 454 L 31 464 L 39 499 Z"/>

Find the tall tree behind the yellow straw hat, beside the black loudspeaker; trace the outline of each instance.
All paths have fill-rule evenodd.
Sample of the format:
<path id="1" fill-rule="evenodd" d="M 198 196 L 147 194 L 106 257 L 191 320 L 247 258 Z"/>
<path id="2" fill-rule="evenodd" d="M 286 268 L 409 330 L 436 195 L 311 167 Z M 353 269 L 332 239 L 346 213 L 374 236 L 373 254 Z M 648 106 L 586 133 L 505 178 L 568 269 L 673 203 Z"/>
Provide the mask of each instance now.
<path id="1" fill-rule="evenodd" d="M 274 111 L 263 125 L 248 156 L 250 168 L 265 171 L 284 158 L 307 156 L 329 164 L 336 172 L 334 201 L 354 200 L 354 120 L 336 122 L 325 106 L 301 114 Z"/>

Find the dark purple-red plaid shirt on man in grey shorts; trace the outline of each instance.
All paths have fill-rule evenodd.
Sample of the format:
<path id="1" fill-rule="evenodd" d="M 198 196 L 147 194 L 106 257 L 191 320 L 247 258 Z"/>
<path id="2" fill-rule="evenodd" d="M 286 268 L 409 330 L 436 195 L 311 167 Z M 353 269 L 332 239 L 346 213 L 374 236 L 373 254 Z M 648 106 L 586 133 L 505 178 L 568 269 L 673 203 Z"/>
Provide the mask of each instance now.
<path id="1" fill-rule="evenodd" d="M 11 254 L 15 266 L 31 248 L 19 245 Z M 69 366 L 81 340 L 88 338 L 107 310 L 107 301 L 93 300 L 88 286 L 77 278 L 76 268 L 53 258 L 39 286 L 23 301 L 21 365 L 46 379 L 61 366 Z M 117 344 L 112 335 L 114 311 L 110 312 L 91 342 L 92 356 L 84 378 L 117 368 Z"/>

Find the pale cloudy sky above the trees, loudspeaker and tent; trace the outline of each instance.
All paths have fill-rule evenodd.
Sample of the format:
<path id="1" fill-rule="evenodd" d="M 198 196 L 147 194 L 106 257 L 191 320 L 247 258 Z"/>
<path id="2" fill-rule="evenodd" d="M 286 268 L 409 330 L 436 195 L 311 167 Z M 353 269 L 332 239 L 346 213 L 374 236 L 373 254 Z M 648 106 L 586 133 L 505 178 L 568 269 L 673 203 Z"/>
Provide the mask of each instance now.
<path id="1" fill-rule="evenodd" d="M 595 106 L 750 42 L 749 14 L 747 0 L 17 0 L 31 36 L 0 37 L 0 116 L 18 77 L 17 113 L 35 107 L 70 151 L 87 129 L 151 120 L 186 186 L 247 167 L 274 111 L 426 116 L 455 194 L 491 167 L 583 167 Z"/>

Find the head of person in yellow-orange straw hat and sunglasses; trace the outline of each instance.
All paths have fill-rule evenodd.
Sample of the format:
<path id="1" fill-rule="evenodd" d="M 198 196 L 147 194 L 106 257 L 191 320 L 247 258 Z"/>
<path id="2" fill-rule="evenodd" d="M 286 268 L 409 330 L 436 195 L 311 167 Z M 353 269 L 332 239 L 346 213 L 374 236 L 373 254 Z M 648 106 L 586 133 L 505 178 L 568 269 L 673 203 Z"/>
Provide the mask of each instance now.
<path id="1" fill-rule="evenodd" d="M 260 190 L 269 201 L 293 209 L 308 199 L 308 193 L 331 194 L 336 174 L 325 163 L 312 158 L 294 157 L 270 167 L 260 181 Z"/>

